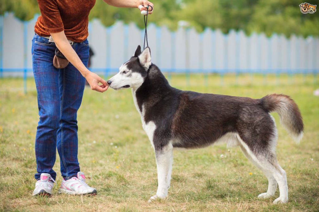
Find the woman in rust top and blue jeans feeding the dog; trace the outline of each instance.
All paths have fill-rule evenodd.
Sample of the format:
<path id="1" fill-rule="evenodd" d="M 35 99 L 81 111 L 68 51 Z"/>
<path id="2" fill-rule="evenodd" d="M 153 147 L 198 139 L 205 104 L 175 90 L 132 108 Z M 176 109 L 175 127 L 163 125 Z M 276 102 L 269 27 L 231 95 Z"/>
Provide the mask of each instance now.
<path id="1" fill-rule="evenodd" d="M 115 7 L 153 7 L 147 0 L 104 2 Z M 96 189 L 85 183 L 85 175 L 80 172 L 77 134 L 77 111 L 81 105 L 85 79 L 92 90 L 104 92 L 108 89 L 105 80 L 87 69 L 88 15 L 95 0 L 38 0 L 38 4 L 41 16 L 34 27 L 36 34 L 32 40 L 32 60 L 40 121 L 35 138 L 37 182 L 33 195 L 52 193 L 56 179 L 56 172 L 52 169 L 56 148 L 63 177 L 59 193 L 96 194 Z M 70 61 L 65 68 L 53 66 L 56 48 Z"/>

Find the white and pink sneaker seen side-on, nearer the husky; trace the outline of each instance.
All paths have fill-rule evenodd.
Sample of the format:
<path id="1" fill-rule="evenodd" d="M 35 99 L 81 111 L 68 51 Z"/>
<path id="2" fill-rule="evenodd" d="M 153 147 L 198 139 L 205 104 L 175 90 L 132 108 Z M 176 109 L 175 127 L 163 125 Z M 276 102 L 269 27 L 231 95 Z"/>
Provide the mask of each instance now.
<path id="1" fill-rule="evenodd" d="M 72 177 L 69 180 L 62 180 L 59 194 L 97 194 L 95 188 L 88 186 L 85 183 L 85 175 L 83 172 L 78 172 L 78 177 Z"/>

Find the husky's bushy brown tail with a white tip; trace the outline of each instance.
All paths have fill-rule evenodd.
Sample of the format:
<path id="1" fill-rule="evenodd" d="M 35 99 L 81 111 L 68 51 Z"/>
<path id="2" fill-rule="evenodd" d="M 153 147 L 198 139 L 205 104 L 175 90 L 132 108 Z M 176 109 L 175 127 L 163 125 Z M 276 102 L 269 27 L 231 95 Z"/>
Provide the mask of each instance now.
<path id="1" fill-rule="evenodd" d="M 265 110 L 277 112 L 280 123 L 299 144 L 303 136 L 303 122 L 296 102 L 289 96 L 283 94 L 271 94 L 260 99 Z"/>

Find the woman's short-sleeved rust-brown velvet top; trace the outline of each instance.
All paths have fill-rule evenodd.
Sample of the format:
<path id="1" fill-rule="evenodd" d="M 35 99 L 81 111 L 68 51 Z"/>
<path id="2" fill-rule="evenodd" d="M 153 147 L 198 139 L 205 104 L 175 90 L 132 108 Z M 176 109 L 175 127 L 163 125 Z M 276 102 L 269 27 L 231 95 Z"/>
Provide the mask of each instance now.
<path id="1" fill-rule="evenodd" d="M 87 36 L 89 13 L 96 0 L 38 0 L 39 16 L 34 32 L 50 36 L 50 32 L 62 32 L 74 42 L 83 42 Z"/>

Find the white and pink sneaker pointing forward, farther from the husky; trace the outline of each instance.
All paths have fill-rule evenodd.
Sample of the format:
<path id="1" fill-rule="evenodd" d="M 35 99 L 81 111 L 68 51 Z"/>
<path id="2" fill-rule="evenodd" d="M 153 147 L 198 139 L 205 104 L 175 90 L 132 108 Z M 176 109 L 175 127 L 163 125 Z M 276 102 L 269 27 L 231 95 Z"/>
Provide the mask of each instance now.
<path id="1" fill-rule="evenodd" d="M 50 174 L 42 173 L 40 175 L 40 180 L 35 183 L 35 188 L 32 195 L 50 196 L 52 194 L 54 182 L 56 181 L 52 179 Z"/>

